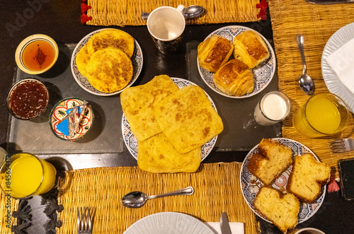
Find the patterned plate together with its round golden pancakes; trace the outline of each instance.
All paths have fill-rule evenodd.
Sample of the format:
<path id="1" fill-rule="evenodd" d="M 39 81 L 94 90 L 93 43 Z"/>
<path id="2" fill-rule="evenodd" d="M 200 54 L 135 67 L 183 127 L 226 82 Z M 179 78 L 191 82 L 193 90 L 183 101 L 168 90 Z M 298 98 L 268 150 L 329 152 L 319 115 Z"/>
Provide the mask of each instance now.
<path id="1" fill-rule="evenodd" d="M 72 74 L 94 95 L 121 93 L 137 80 L 143 56 L 138 42 L 123 30 L 106 28 L 86 35 L 72 53 Z"/>

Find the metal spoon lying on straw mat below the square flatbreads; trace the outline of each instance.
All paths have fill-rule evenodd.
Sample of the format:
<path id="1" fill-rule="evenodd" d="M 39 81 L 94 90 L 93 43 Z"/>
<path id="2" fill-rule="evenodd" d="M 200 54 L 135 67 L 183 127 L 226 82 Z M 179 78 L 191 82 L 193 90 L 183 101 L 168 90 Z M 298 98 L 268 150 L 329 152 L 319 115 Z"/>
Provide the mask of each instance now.
<path id="1" fill-rule="evenodd" d="M 143 192 L 135 191 L 125 194 L 120 201 L 123 206 L 127 208 L 140 208 L 144 206 L 148 199 L 158 198 L 158 197 L 168 197 L 174 195 L 191 195 L 194 193 L 193 187 L 186 187 L 184 189 L 179 189 L 175 192 L 168 192 L 166 194 L 147 196 Z"/>

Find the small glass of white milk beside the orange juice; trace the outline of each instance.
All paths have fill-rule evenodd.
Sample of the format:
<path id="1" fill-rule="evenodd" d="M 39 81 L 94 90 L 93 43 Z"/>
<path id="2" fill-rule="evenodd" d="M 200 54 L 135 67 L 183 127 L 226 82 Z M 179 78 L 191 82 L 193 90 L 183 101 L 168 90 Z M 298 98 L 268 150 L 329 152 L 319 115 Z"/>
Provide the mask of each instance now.
<path id="1" fill-rule="evenodd" d="M 290 99 L 282 92 L 271 91 L 265 93 L 254 109 L 254 119 L 258 124 L 268 126 L 276 124 L 289 116 L 291 110 Z"/>

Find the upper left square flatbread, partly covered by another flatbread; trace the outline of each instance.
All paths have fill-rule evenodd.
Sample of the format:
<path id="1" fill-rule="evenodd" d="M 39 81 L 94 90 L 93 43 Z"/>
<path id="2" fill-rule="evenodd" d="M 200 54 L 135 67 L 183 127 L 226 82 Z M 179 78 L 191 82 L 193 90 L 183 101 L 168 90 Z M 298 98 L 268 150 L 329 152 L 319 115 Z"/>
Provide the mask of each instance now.
<path id="1" fill-rule="evenodd" d="M 139 141 L 159 134 L 154 105 L 178 90 L 169 76 L 155 76 L 142 86 L 126 88 L 120 94 L 120 103 L 130 129 Z"/>

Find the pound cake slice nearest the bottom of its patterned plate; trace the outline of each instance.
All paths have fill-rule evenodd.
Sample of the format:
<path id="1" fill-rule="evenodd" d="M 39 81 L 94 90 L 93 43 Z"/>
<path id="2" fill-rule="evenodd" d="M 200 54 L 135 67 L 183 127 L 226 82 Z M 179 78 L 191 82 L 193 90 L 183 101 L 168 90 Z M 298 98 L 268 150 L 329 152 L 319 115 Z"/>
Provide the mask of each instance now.
<path id="1" fill-rule="evenodd" d="M 254 201 L 256 210 L 277 226 L 282 233 L 297 224 L 300 201 L 294 194 L 282 194 L 273 187 L 263 186 Z"/>

